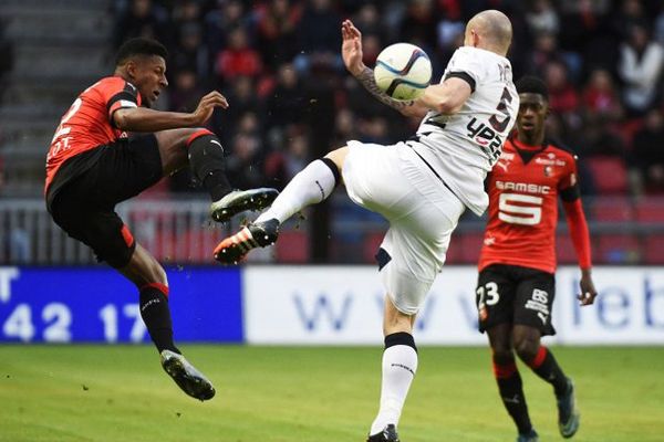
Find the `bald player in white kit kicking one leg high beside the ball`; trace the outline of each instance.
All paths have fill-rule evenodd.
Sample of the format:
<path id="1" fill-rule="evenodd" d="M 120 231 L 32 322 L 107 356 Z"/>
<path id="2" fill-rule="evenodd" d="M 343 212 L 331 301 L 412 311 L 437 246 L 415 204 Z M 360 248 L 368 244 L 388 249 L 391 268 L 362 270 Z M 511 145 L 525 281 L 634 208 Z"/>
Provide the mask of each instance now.
<path id="1" fill-rule="evenodd" d="M 302 208 L 321 202 L 343 182 L 357 204 L 390 221 L 376 259 L 386 291 L 381 404 L 367 441 L 396 442 L 396 427 L 417 370 L 415 316 L 442 271 L 452 232 L 466 208 L 488 206 L 484 179 L 500 156 L 516 120 L 519 96 L 505 57 L 511 23 L 499 11 L 475 15 L 464 46 L 439 84 L 414 102 L 397 102 L 376 86 L 362 63 L 362 35 L 342 24 L 346 69 L 382 103 L 424 117 L 417 134 L 392 146 L 349 141 L 312 161 L 288 183 L 270 209 L 225 239 L 215 259 L 237 263 L 255 248 L 277 241 L 279 225 Z"/>

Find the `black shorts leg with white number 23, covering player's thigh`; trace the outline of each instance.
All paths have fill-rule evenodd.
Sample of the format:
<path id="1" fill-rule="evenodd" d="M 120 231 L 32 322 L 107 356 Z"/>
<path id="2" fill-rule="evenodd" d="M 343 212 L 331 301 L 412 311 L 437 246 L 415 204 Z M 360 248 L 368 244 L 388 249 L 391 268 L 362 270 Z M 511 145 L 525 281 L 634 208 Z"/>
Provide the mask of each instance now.
<path id="1" fill-rule="evenodd" d="M 475 304 L 479 330 L 486 332 L 499 324 L 512 324 L 516 284 L 507 265 L 489 265 L 477 277 Z"/>

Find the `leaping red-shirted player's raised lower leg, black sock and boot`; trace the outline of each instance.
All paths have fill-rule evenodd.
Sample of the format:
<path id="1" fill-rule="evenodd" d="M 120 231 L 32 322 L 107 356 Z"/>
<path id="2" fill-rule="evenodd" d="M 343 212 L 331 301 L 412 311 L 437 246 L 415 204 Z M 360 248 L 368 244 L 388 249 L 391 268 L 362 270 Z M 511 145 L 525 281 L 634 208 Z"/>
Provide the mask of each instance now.
<path id="1" fill-rule="evenodd" d="M 277 189 L 232 190 L 226 177 L 226 159 L 219 139 L 207 129 L 194 133 L 187 140 L 189 168 L 212 199 L 210 215 L 226 222 L 246 210 L 262 210 L 279 194 Z"/>

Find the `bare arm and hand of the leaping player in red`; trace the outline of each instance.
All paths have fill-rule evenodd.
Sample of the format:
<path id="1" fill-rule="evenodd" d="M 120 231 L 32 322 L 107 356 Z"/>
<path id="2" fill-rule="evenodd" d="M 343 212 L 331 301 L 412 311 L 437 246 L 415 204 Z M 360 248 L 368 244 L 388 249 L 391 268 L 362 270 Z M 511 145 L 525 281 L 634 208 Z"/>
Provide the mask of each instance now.
<path id="1" fill-rule="evenodd" d="M 147 107 L 127 106 L 113 110 L 111 118 L 115 127 L 126 131 L 157 131 L 204 125 L 216 107 L 227 108 L 226 97 L 212 91 L 198 103 L 193 113 L 162 112 Z"/>

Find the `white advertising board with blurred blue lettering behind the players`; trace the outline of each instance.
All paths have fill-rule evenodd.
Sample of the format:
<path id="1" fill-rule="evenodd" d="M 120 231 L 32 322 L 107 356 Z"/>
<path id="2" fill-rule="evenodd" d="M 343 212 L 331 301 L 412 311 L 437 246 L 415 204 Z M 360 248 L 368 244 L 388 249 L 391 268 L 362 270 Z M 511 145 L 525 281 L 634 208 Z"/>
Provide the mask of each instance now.
<path id="1" fill-rule="evenodd" d="M 560 269 L 547 343 L 664 345 L 664 269 L 599 267 L 595 305 L 579 307 L 579 270 Z M 248 266 L 249 344 L 381 345 L 383 288 L 374 266 Z M 449 266 L 432 287 L 415 327 L 422 345 L 486 345 L 477 330 L 471 266 Z"/>

